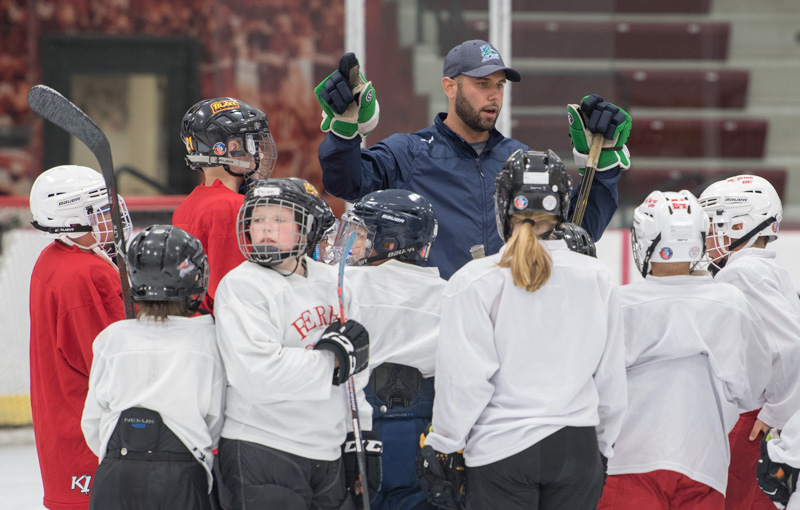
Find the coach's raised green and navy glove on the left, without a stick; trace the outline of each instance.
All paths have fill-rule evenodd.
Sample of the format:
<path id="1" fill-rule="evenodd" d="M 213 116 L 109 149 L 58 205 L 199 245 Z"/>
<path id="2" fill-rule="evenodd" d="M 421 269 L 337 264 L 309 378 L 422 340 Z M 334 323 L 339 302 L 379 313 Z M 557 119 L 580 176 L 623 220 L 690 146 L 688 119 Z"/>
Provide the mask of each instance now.
<path id="1" fill-rule="evenodd" d="M 339 68 L 314 89 L 322 106 L 320 129 L 341 138 L 367 136 L 378 125 L 380 105 L 372 82 L 359 70 L 355 53 L 345 53 Z"/>

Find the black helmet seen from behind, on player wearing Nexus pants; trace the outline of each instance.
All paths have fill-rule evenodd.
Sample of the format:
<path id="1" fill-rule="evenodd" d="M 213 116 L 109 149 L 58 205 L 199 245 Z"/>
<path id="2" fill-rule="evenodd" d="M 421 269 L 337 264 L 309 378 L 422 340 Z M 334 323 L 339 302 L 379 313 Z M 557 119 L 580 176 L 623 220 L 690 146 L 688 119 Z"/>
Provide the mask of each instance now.
<path id="1" fill-rule="evenodd" d="M 194 236 L 172 225 L 152 225 L 128 246 L 134 301 L 183 301 L 196 311 L 208 289 L 208 258 Z"/>

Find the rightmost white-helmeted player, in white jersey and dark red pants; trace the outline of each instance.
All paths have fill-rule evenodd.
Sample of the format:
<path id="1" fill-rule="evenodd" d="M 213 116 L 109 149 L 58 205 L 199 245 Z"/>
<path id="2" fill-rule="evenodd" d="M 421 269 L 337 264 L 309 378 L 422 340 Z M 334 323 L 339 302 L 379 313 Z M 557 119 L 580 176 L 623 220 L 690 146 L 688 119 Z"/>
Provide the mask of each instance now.
<path id="1" fill-rule="evenodd" d="M 775 252 L 766 248 L 778 238 L 781 200 L 766 179 L 738 175 L 706 188 L 700 205 L 711 219 L 706 245 L 710 268 L 717 272 L 714 281 L 744 292 L 762 320 L 772 356 L 764 397 L 742 413 L 730 434 L 725 508 L 772 508 L 753 479 L 760 454 L 758 438 L 771 427 L 783 427 L 800 409 L 800 300 L 788 273 L 775 263 Z"/>

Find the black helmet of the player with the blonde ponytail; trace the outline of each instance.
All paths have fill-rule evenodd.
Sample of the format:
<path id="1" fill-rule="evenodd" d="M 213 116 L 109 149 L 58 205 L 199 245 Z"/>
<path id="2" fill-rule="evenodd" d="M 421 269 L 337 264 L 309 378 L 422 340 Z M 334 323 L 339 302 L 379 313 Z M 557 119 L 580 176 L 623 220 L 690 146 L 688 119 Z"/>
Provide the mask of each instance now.
<path id="1" fill-rule="evenodd" d="M 511 237 L 511 217 L 521 212 L 543 212 L 567 221 L 572 178 L 552 151 L 514 151 L 495 180 L 497 232 Z"/>

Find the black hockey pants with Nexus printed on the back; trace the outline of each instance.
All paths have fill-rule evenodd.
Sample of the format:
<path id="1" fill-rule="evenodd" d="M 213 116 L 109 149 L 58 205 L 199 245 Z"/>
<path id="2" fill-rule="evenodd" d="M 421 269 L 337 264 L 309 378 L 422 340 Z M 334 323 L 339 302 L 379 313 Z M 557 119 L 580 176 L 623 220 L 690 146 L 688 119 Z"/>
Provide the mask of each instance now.
<path id="1" fill-rule="evenodd" d="M 150 409 L 122 412 L 92 484 L 89 510 L 210 510 L 206 470 Z"/>

